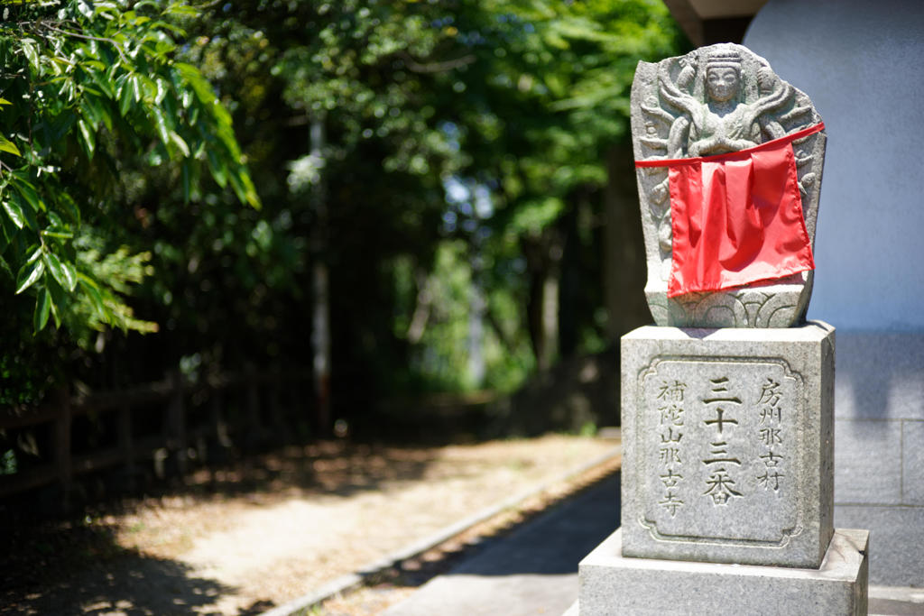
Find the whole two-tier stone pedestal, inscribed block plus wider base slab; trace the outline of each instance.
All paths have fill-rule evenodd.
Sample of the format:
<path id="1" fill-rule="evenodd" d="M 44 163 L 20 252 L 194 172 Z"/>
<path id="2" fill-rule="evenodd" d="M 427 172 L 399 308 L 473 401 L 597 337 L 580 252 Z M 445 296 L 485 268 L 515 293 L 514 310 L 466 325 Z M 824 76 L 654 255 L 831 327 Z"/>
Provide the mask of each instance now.
<path id="1" fill-rule="evenodd" d="M 834 330 L 622 339 L 622 527 L 570 614 L 865 614 L 869 532 L 833 528 Z"/>

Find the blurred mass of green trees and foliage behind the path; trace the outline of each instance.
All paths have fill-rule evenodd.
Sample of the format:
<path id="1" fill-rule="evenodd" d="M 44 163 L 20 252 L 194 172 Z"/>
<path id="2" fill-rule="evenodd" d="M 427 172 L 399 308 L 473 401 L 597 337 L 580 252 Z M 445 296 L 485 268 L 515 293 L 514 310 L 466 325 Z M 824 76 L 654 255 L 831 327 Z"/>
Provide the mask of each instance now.
<path id="1" fill-rule="evenodd" d="M 0 405 L 257 366 L 304 369 L 316 436 L 424 394 L 529 413 L 649 321 L 629 88 L 688 45 L 660 2 L 4 10 Z"/>

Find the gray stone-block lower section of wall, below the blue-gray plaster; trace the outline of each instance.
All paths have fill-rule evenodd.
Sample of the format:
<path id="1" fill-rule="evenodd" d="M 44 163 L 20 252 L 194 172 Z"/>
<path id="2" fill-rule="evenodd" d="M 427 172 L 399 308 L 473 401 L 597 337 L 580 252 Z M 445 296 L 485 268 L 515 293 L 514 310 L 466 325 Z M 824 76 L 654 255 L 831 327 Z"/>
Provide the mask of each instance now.
<path id="1" fill-rule="evenodd" d="M 869 528 L 871 583 L 924 586 L 924 335 L 839 329 L 836 355 L 834 522 Z"/>

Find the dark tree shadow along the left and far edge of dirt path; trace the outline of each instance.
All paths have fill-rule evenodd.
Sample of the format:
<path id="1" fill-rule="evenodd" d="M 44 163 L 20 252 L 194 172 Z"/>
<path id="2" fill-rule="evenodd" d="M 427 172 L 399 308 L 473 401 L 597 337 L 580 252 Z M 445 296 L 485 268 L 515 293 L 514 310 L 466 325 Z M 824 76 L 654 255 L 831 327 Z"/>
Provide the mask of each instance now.
<path id="1" fill-rule="evenodd" d="M 384 481 L 422 477 L 435 449 L 327 441 L 251 455 L 201 468 L 182 481 L 149 486 L 148 496 L 90 505 L 67 518 L 41 511 L 34 501 L 0 508 L 0 614 L 210 614 L 235 589 L 195 577 L 181 563 L 128 550 L 114 529 L 91 522 L 165 497 L 225 499 L 246 494 L 274 501 L 301 494 L 349 496 Z M 268 602 L 236 613 L 261 613 Z"/>

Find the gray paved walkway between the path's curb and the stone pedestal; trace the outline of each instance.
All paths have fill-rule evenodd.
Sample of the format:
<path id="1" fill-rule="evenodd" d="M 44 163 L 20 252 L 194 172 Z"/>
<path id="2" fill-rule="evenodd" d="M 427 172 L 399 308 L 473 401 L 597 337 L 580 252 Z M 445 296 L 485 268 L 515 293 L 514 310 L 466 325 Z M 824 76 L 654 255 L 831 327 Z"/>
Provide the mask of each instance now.
<path id="1" fill-rule="evenodd" d="M 619 525 L 619 475 L 433 578 L 386 616 L 534 616 L 577 598 L 577 563 Z M 869 613 L 924 616 L 924 589 L 870 586 Z"/>

